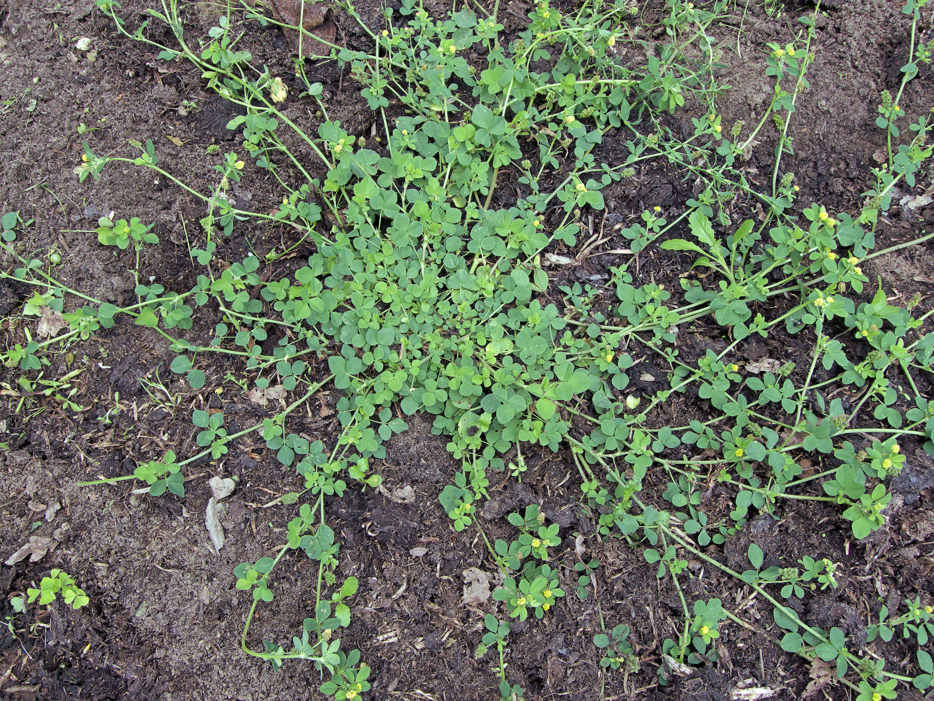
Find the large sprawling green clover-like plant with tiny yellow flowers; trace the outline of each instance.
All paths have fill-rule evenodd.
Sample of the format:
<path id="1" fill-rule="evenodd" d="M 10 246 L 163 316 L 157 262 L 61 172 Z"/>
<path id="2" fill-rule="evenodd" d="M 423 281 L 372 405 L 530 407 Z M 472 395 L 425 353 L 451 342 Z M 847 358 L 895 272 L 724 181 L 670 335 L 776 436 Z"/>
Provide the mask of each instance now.
<path id="1" fill-rule="evenodd" d="M 239 6 L 229 7 L 208 36 L 191 37 L 177 3 L 165 0 L 150 8 L 150 21 L 167 27 L 168 46 L 129 27 L 116 0 L 97 0 L 97 7 L 122 34 L 163 59 L 191 64 L 207 90 L 242 108 L 228 124 L 241 139 L 240 155 L 206 154 L 217 159 L 214 181 L 199 192 L 165 169 L 151 141 L 106 156 L 85 144 L 78 179 L 106 178 L 108 165 L 133 165 L 204 204 L 205 218 L 186 232 L 192 263 L 200 266 L 196 284 L 181 292 L 137 284 L 138 301 L 123 308 L 90 299 L 51 279 L 43 262 L 26 256 L 24 248 L 14 250 L 10 244 L 25 224 L 18 215 L 6 215 L 3 250 L 16 267 L 0 271 L 0 278 L 33 286 L 31 304 L 38 313 L 43 305 L 63 311 L 66 296 L 82 301 L 69 307 L 73 316 L 66 332 L 41 341 L 21 338 L 4 360 L 36 374 L 69 339 L 90 337 L 125 315 L 170 340 L 177 352 L 171 369 L 193 390 L 219 389 L 221 379 L 211 368 L 220 355 L 242 363 L 238 391 L 262 397 L 271 416 L 229 434 L 223 414 L 192 407 L 197 450 L 161 460 L 149 456 L 138 479 L 152 480 L 150 494 L 173 493 L 185 465 L 208 455 L 219 459 L 253 432 L 281 465 L 294 467 L 304 479 L 300 492 L 283 498 L 287 506 L 299 506 L 282 550 L 237 567 L 237 587 L 253 593 L 241 639 L 245 652 L 276 665 L 311 661 L 331 675 L 320 688 L 336 699 L 367 690 L 369 668 L 360 652 L 347 653 L 333 637 L 350 622 L 353 593 L 352 587 L 345 590 L 347 582 L 338 587 L 336 581 L 341 544 L 325 522 L 324 498 L 378 484 L 371 460 L 384 458 L 385 442 L 406 429 L 405 417 L 420 413 L 434 433 L 447 436 L 447 449 L 460 463 L 438 496 L 452 529 L 476 528 L 485 540 L 474 517 L 488 498 L 492 473 L 508 470 L 523 477 L 528 465 L 522 456 L 531 446 L 570 448 L 584 484 L 581 508 L 597 517 L 600 536 L 626 538 L 657 564 L 659 577 L 672 578 L 684 627 L 663 651 L 679 664 L 714 659 L 718 625 L 731 615 L 719 599 L 688 607 L 680 581 L 690 576 L 686 562 L 693 557 L 770 601 L 776 622 L 797 636 L 785 636 L 786 650 L 808 660 L 833 651 L 843 683 L 857 694 L 865 693 L 864 683 L 872 694 L 883 695 L 897 681 L 929 684 L 927 658 L 917 658 L 922 673 L 914 677 L 885 670 L 857 656 L 834 630 L 800 622 L 766 591 L 780 584 L 783 596 L 800 598 L 809 594 L 807 585 L 834 586 L 827 562 L 804 558 L 798 563 L 803 574 L 794 563 L 761 571 L 763 553 L 750 548 L 752 569 L 738 573 L 704 550 L 724 543 L 757 513 L 778 516 L 794 500 L 825 502 L 838 509 L 854 536 L 869 535 L 885 522 L 886 480 L 901 465 L 899 436 L 932 445 L 934 408 L 914 382 L 919 373 L 934 372 L 934 335 L 921 333 L 929 312 L 914 316 L 920 299 L 890 305 L 881 281 L 873 285 L 869 303 L 857 305 L 854 295 L 870 282 L 863 274 L 867 260 L 934 236 L 874 250 L 880 214 L 896 187 L 902 181 L 913 185 L 930 157 L 931 124 L 918 117 L 908 130 L 899 129 L 906 116 L 898 108 L 899 90 L 880 113 L 888 164 L 875 172 L 865 207 L 854 216 L 819 202 L 797 202 L 794 174 L 779 178 L 782 159 L 794 153 L 790 124 L 797 98 L 808 87 L 819 8 L 802 18 L 792 42 L 770 46 L 761 56 L 773 81 L 771 101 L 747 134 L 741 122 L 725 124 L 716 107 L 722 86 L 715 79 L 717 48 L 708 28 L 726 11 L 721 2 L 701 8 L 672 0 L 662 22 L 664 38 L 639 70 L 616 56 L 618 45 L 634 41 L 628 25 L 633 12 L 622 2 L 583 2 L 573 12 L 538 3 L 530 7 L 528 28 L 509 42 L 502 40 L 495 12 L 481 18 L 464 7 L 435 19 L 417 0 L 403 0 L 398 12 L 387 10 L 391 21 L 385 29 L 374 31 L 348 3 L 342 9 L 360 23 L 372 50 L 332 46 L 320 58 L 347 68 L 374 110 L 375 135 L 359 137 L 329 117 L 320 100 L 323 88 L 307 79 L 304 64 L 296 64 L 302 86 L 296 99 L 320 113 L 315 130 L 304 130 L 279 108 L 282 78 L 238 46 L 241 21 L 269 21 L 254 8 L 243 7 L 240 14 L 233 12 Z M 922 7 L 910 0 L 903 8 L 913 37 Z M 644 50 L 638 41 L 632 47 Z M 901 88 L 916 75 L 917 63 L 929 59 L 921 49 L 913 38 L 912 64 L 903 71 Z M 484 57 L 481 64 L 468 62 L 473 50 Z M 551 68 L 539 72 L 536 66 L 544 60 Z M 689 122 L 693 134 L 679 139 L 659 114 L 677 111 L 688 99 L 704 112 Z M 759 192 L 741 162 L 772 124 L 777 144 L 771 187 Z M 615 165 L 600 157 L 611 129 L 624 145 Z M 312 154 L 313 168 L 287 148 L 295 142 Z M 247 163 L 280 183 L 282 203 L 275 210 L 235 207 L 231 191 L 249 172 Z M 697 194 L 676 214 L 663 203 L 650 203 L 619 227 L 618 236 L 633 251 L 663 240 L 661 250 L 709 275 L 680 278 L 676 289 L 663 289 L 643 284 L 638 266 L 617 265 L 609 287 L 600 291 L 615 299 L 609 303 L 600 296 L 599 309 L 593 289 L 571 286 L 549 294 L 553 280 L 542 264 L 547 247 L 579 245 L 575 255 L 596 250 L 601 239 L 589 237 L 596 232 L 587 222 L 606 213 L 605 189 L 655 164 L 691 179 Z M 520 174 L 523 188 L 508 206 L 497 196 L 507 171 Z M 741 202 L 751 206 L 743 211 Z M 216 257 L 219 237 L 247 223 L 258 236 L 279 232 L 282 243 L 267 261 L 291 255 L 302 244 L 312 252 L 281 279 L 262 279 L 256 255 L 223 265 Z M 101 235 L 103 243 L 129 248 L 133 241 L 138 275 L 147 227 L 136 222 L 134 229 L 132 219 L 123 227 L 102 226 L 109 230 Z M 789 300 L 787 308 L 773 311 L 775 299 Z M 194 314 L 214 314 L 209 324 L 215 335 L 205 346 L 175 337 L 174 329 L 191 328 Z M 707 333 L 715 328 L 723 350 L 707 350 L 688 362 L 675 341 L 694 324 L 703 324 Z M 273 329 L 285 337 L 264 351 Z M 737 358 L 744 339 L 776 332 L 813 341 L 797 368 L 782 363 L 753 372 Z M 665 368 L 654 393 L 630 389 L 630 342 L 651 349 L 656 365 Z M 324 377 L 311 379 L 310 368 L 324 367 Z M 325 385 L 341 394 L 339 431 L 312 440 L 299 433 L 291 413 Z M 856 404 L 844 410 L 839 397 L 828 395 L 831 385 L 858 391 Z M 649 419 L 659 407 L 688 392 L 708 408 L 707 420 L 647 428 L 657 425 Z M 909 397 L 909 411 L 899 409 L 899 394 Z M 872 433 L 881 436 L 878 445 L 856 451 L 850 441 Z M 800 463 L 809 453 L 832 455 L 842 465 L 805 475 Z M 663 497 L 677 509 L 672 512 L 640 499 L 645 475 L 659 466 L 670 476 Z M 699 485 L 712 479 L 732 500 L 727 518 L 711 518 L 701 499 Z M 508 522 L 517 536 L 508 543 L 487 542 L 504 576 L 494 599 L 520 620 L 531 611 L 543 618 L 563 595 L 559 567 L 571 569 L 545 562 L 556 557 L 551 546 L 559 542 L 559 528 L 541 516 L 535 505 L 512 514 Z M 248 631 L 256 607 L 274 596 L 279 559 L 299 549 L 318 564 L 315 615 L 293 638 L 291 651 L 268 641 L 254 649 Z M 584 565 L 574 570 L 582 596 L 597 564 L 577 565 Z M 927 635 L 927 621 L 906 624 Z M 487 625 L 487 635 L 500 646 L 505 631 L 499 622 L 495 628 Z M 502 660 L 500 681 L 503 698 L 521 696 L 521 688 L 505 680 Z"/>

